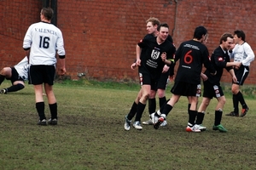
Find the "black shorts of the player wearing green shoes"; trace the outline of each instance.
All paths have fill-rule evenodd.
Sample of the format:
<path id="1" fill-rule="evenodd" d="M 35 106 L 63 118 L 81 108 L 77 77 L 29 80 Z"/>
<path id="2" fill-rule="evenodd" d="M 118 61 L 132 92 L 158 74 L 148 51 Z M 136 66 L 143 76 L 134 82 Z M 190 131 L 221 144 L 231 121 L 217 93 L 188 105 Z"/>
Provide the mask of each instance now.
<path id="1" fill-rule="evenodd" d="M 203 97 L 205 98 L 219 98 L 224 96 L 223 90 L 219 85 L 214 85 L 209 81 L 204 82 L 204 93 Z"/>

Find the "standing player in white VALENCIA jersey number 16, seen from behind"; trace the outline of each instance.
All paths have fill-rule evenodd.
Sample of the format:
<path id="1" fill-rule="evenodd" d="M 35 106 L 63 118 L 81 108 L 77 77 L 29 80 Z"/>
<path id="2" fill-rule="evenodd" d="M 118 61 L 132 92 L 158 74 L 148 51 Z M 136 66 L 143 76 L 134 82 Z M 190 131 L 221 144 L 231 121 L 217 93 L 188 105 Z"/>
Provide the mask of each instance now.
<path id="1" fill-rule="evenodd" d="M 23 48 L 29 57 L 30 81 L 36 95 L 36 109 L 38 111 L 38 125 L 46 125 L 44 115 L 44 91 L 48 98 L 50 119 L 49 125 L 57 124 L 57 103 L 53 92 L 55 77 L 55 54 L 57 52 L 61 63 L 61 75 L 66 73 L 65 49 L 61 30 L 50 23 L 54 11 L 52 8 L 42 8 L 41 22 L 29 26 L 24 37 Z"/>

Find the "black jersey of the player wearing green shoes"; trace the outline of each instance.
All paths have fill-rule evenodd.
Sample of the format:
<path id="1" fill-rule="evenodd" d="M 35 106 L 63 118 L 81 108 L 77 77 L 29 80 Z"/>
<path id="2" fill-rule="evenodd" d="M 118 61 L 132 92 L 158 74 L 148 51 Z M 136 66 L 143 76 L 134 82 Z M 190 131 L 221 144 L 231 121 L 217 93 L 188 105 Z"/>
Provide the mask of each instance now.
<path id="1" fill-rule="evenodd" d="M 212 53 L 211 62 L 216 69 L 217 74 L 215 76 L 212 76 L 208 69 L 205 71 L 205 74 L 207 75 L 209 82 L 214 85 L 219 85 L 220 78 L 223 74 L 223 69 L 225 68 L 227 71 L 230 71 L 230 69 L 232 69 L 231 66 L 226 67 L 227 62 L 230 62 L 230 56 L 227 51 L 224 51 L 220 46 L 218 46 L 218 48 L 216 48 Z"/>

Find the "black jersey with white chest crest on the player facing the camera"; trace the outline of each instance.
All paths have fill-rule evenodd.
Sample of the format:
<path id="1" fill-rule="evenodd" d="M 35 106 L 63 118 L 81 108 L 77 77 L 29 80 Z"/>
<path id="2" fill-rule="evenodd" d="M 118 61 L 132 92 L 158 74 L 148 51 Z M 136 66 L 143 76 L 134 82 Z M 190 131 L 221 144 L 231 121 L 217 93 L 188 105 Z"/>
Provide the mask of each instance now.
<path id="1" fill-rule="evenodd" d="M 137 45 L 143 48 L 141 54 L 141 66 L 139 72 L 150 73 L 153 79 L 158 79 L 165 63 L 161 59 L 161 54 L 166 53 L 166 59 L 173 59 L 175 47 L 172 42 L 166 40 L 161 44 L 156 42 L 157 37 L 143 38 Z"/>

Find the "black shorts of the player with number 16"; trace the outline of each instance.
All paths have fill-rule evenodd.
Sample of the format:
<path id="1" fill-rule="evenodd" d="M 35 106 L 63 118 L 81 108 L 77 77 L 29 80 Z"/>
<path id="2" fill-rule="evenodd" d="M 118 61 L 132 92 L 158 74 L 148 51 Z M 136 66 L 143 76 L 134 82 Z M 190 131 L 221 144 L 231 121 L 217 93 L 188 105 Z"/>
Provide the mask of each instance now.
<path id="1" fill-rule="evenodd" d="M 30 82 L 33 85 L 47 83 L 53 85 L 55 65 L 31 65 L 29 70 Z"/>

